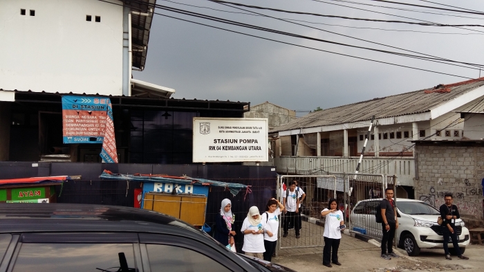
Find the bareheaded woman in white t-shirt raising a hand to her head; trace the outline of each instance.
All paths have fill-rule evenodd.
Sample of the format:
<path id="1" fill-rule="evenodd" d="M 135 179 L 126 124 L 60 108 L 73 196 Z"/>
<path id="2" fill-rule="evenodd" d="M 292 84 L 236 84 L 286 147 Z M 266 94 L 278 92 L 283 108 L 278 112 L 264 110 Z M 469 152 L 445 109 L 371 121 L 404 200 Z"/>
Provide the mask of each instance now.
<path id="1" fill-rule="evenodd" d="M 262 214 L 262 221 L 266 222 L 266 233 L 264 233 L 264 260 L 270 262 L 272 253 L 276 250 L 277 231 L 279 230 L 279 215 L 284 206 L 277 199 L 270 199 L 266 205 L 266 212 Z"/>

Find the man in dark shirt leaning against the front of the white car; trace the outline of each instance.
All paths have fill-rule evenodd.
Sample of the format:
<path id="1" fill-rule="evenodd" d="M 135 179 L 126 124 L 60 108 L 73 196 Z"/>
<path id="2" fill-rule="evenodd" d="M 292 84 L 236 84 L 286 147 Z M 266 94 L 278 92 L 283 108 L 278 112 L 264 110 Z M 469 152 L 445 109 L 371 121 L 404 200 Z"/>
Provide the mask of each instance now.
<path id="1" fill-rule="evenodd" d="M 452 237 L 452 244 L 454 244 L 454 250 L 459 259 L 469 260 L 468 257 L 465 257 L 460 253 L 460 248 L 458 245 L 458 237 L 456 235 L 456 219 L 460 218 L 459 210 L 457 206 L 452 205 L 452 194 L 447 192 L 444 196 L 445 204 L 440 206 L 440 217 L 442 217 L 442 225 L 440 228 L 442 229 L 442 233 L 444 236 L 444 251 L 445 251 L 445 259 L 452 260 L 449 254 L 449 237 Z"/>

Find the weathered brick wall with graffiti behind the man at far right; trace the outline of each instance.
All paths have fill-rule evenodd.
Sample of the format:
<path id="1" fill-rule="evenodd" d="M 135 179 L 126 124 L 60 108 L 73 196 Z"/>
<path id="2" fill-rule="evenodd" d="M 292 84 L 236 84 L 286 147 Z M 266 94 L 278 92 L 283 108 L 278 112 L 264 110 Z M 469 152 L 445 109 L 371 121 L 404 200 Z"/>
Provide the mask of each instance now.
<path id="1" fill-rule="evenodd" d="M 460 215 L 483 221 L 484 146 L 416 145 L 416 199 L 440 207 L 454 194 Z"/>

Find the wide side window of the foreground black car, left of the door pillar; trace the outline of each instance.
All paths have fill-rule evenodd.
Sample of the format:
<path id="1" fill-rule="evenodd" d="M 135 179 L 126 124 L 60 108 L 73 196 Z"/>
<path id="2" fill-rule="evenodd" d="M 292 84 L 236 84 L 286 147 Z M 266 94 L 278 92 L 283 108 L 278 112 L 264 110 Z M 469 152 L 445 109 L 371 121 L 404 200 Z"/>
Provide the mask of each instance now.
<path id="1" fill-rule="evenodd" d="M 24 243 L 13 271 L 107 271 L 120 267 L 118 253 L 124 253 L 128 267 L 134 269 L 133 251 L 133 244 Z"/>

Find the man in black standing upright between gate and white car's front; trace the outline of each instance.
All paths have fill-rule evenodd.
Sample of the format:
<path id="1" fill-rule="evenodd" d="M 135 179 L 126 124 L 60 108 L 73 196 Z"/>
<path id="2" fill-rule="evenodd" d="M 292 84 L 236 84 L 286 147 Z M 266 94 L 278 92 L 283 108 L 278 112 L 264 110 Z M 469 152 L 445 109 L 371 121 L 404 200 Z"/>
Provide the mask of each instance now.
<path id="1" fill-rule="evenodd" d="M 395 212 L 395 203 L 393 203 L 393 199 L 391 199 L 393 197 L 393 189 L 387 188 L 387 190 L 385 190 L 385 194 L 387 198 L 383 199 L 380 203 L 380 207 L 382 209 L 383 230 L 382 255 L 380 257 L 385 260 L 391 260 L 391 257 L 399 257 L 398 255 L 393 253 L 392 248 L 393 237 L 395 237 L 395 230 L 398 228 L 398 219 Z"/>

